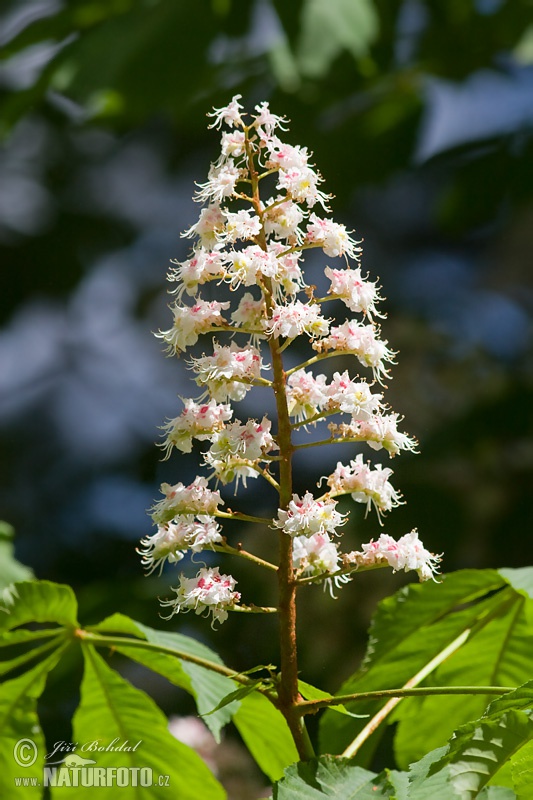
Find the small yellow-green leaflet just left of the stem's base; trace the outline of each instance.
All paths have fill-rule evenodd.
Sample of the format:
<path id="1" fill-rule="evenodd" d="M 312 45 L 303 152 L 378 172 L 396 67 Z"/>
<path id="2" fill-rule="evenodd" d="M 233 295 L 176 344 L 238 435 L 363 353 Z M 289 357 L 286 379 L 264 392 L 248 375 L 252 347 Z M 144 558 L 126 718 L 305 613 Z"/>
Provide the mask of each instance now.
<path id="1" fill-rule="evenodd" d="M 298 752 L 283 715 L 263 695 L 254 692 L 243 698 L 233 722 L 270 780 L 281 778 L 285 767 L 298 761 Z"/>

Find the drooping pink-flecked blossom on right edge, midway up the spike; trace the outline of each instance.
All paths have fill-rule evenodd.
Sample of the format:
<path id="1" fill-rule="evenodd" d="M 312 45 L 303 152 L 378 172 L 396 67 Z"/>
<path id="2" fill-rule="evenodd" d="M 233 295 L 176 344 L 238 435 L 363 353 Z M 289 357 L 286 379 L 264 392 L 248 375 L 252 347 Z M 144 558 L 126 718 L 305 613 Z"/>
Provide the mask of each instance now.
<path id="1" fill-rule="evenodd" d="M 313 342 L 313 347 L 319 352 L 353 353 L 363 366 L 372 368 L 374 378 L 380 383 L 388 376 L 385 362 L 394 363 L 395 353 L 389 350 L 386 341 L 379 338 L 375 326 L 362 325 L 354 320 L 331 328 L 329 336 Z"/>

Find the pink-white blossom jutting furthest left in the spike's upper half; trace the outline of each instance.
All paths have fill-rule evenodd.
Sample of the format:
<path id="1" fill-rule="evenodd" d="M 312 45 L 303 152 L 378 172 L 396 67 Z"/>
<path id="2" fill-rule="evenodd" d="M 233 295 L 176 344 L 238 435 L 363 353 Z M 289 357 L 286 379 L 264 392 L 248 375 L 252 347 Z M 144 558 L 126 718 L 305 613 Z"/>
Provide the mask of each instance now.
<path id="1" fill-rule="evenodd" d="M 169 352 L 183 353 L 187 347 L 196 344 L 201 333 L 226 326 L 228 323 L 223 318 L 222 311 L 229 307 L 229 303 L 200 298 L 194 306 L 172 306 L 174 325 L 168 331 L 159 331 L 155 335 L 166 342 Z"/>

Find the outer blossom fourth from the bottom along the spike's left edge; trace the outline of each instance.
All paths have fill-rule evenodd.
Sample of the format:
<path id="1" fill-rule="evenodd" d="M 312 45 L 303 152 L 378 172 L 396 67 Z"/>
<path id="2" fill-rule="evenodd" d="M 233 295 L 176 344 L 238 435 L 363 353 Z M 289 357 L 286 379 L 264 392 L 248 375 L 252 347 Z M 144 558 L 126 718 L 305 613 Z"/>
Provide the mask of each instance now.
<path id="1" fill-rule="evenodd" d="M 168 458 L 172 448 L 182 453 L 190 453 L 192 440 L 203 441 L 213 433 L 221 430 L 224 423 L 231 419 L 233 411 L 225 403 L 209 400 L 208 403 L 196 403 L 194 400 L 183 401 L 184 409 L 178 417 L 169 420 L 163 430 L 166 433 L 162 448 Z"/>

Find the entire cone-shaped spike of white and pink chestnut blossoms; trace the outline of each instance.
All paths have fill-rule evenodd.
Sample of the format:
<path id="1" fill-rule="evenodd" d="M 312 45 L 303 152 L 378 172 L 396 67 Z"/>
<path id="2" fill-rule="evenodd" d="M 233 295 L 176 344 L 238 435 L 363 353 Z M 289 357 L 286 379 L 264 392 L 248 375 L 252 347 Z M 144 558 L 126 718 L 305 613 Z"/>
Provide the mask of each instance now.
<path id="1" fill-rule="evenodd" d="M 322 478 L 326 494 L 292 491 L 291 459 L 299 447 L 364 442 L 394 456 L 415 451 L 416 441 L 398 430 L 401 417 L 375 388 L 390 377 L 395 353 L 376 323 L 385 316 L 378 309 L 382 298 L 377 284 L 362 274 L 361 242 L 329 216 L 323 178 L 308 150 L 280 138 L 285 120 L 267 103 L 247 115 L 239 100 L 236 96 L 211 114 L 210 127 L 221 131 L 220 156 L 207 180 L 197 184 L 195 200 L 203 208 L 183 234 L 192 241 L 192 252 L 174 262 L 168 274 L 176 284 L 171 292 L 173 325 L 157 334 L 168 354 L 177 356 L 207 335 L 209 344 L 187 362 L 199 396 L 183 399 L 181 413 L 163 426 L 161 446 L 169 457 L 174 449 L 190 453 L 200 443 L 209 477 L 197 477 L 189 486 L 162 485 L 163 499 L 152 509 L 157 531 L 142 540 L 142 563 L 148 572 L 161 571 L 166 563 L 184 561 L 188 552 L 211 548 L 277 570 L 242 551 L 241 545 L 230 547 L 217 521 L 224 517 L 270 522 L 286 550 L 287 584 L 315 578 L 342 581 L 347 566 L 363 564 L 414 569 L 426 579 L 439 559 L 424 550 L 415 533 L 397 543 L 382 535 L 344 561 L 332 540 L 347 521 L 336 509 L 336 497 L 349 494 L 367 511 L 373 506 L 380 521 L 401 503 L 389 480 L 392 470 L 372 466 L 358 454 Z M 303 257 L 309 249 L 322 251 L 328 260 L 341 259 L 325 266 L 329 286 L 323 297 L 306 283 Z M 219 300 L 205 299 L 206 287 L 213 283 L 220 288 Z M 337 319 L 343 308 L 344 314 L 347 310 L 360 317 Z M 286 370 L 282 354 L 298 337 L 309 357 Z M 355 356 L 367 375 L 352 375 L 348 369 L 314 371 L 318 362 L 339 355 Z M 266 416 L 247 422 L 234 418 L 231 403 L 243 400 L 255 386 L 275 393 L 274 424 Z M 310 435 L 322 424 L 328 432 L 325 440 L 305 445 L 293 441 L 299 428 Z M 235 482 L 237 491 L 240 481 L 246 486 L 247 479 L 257 477 L 267 480 L 281 498 L 272 521 L 220 510 L 224 502 L 218 485 Z M 202 568 L 194 578 L 182 575 L 174 591 L 176 598 L 165 601 L 171 615 L 193 609 L 219 622 L 240 600 L 235 579 L 221 575 L 218 567 Z"/>

